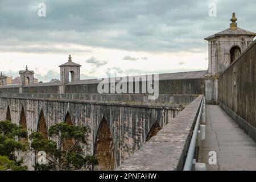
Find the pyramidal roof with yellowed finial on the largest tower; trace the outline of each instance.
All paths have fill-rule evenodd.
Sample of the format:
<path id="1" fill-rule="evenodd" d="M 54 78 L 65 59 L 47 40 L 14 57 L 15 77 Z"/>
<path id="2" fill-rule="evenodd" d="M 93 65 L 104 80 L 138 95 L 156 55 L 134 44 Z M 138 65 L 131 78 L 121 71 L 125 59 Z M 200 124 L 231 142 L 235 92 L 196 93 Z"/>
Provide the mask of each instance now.
<path id="1" fill-rule="evenodd" d="M 213 34 L 205 38 L 205 40 L 214 39 L 218 36 L 240 36 L 240 35 L 247 35 L 247 36 L 256 36 L 256 33 L 244 30 L 242 28 L 237 27 L 237 18 L 236 13 L 233 13 L 232 18 L 230 19 L 232 23 L 230 23 L 230 27 L 224 31 L 218 32 L 217 34 Z"/>

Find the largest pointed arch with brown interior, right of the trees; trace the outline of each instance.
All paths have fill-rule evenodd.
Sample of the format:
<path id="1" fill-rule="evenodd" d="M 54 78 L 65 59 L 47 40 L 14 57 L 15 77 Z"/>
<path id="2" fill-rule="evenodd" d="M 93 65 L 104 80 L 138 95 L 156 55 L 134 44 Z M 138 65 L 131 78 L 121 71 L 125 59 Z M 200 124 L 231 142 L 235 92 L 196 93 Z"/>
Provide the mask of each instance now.
<path id="1" fill-rule="evenodd" d="M 114 142 L 105 117 L 98 127 L 94 145 L 94 155 L 98 159 L 100 170 L 113 170 L 115 167 Z"/>

